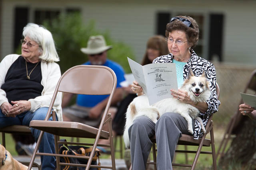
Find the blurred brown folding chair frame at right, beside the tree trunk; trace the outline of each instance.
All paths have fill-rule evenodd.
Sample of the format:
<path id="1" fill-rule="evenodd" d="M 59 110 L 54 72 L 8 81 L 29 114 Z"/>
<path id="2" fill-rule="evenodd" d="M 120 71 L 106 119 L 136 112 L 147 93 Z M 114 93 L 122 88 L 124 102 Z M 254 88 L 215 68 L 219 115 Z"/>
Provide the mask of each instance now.
<path id="1" fill-rule="evenodd" d="M 250 76 L 249 81 L 246 84 L 246 87 L 244 89 L 243 93 L 246 93 L 248 88 L 250 88 L 250 84 L 252 83 L 253 78 L 256 77 L 256 70 L 254 70 Z M 243 100 L 241 99 L 240 104 L 243 103 Z M 239 122 L 242 120 L 243 115 L 239 111 L 239 106 L 238 106 L 238 111 L 236 114 L 234 114 L 230 120 L 230 122 L 227 125 L 227 129 L 223 135 L 222 141 L 220 142 L 220 147 L 218 148 L 216 158 L 221 158 L 224 155 L 224 152 L 226 150 L 226 147 L 228 145 L 228 141 L 232 138 L 232 135 L 234 134 L 234 129 L 236 129 L 236 126 L 239 124 Z"/>

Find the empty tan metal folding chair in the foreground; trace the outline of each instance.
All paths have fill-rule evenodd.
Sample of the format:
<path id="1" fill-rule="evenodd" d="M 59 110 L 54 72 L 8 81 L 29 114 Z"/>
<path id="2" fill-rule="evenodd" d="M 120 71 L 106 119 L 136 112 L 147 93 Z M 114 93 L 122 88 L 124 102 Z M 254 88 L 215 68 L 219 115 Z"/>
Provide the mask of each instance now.
<path id="1" fill-rule="evenodd" d="M 56 86 L 48 113 L 44 121 L 31 121 L 30 127 L 41 130 L 40 136 L 38 138 L 36 149 L 30 161 L 28 169 L 32 167 L 36 155 L 51 155 L 56 156 L 57 170 L 60 170 L 60 165 L 72 165 L 72 166 L 83 166 L 86 167 L 86 170 L 89 168 L 109 168 L 115 170 L 115 157 L 114 157 L 114 145 L 112 138 L 112 123 L 111 123 L 111 114 L 108 113 L 108 109 L 111 104 L 111 100 L 116 88 L 116 74 L 113 70 L 106 66 L 91 66 L 91 65 L 79 65 L 74 66 L 64 72 L 60 77 L 58 84 Z M 61 121 L 48 121 L 52 106 L 54 104 L 56 95 L 58 92 L 67 92 L 74 94 L 88 94 L 88 95 L 106 95 L 110 94 L 108 98 L 108 103 L 104 110 L 102 120 L 100 122 L 99 128 L 94 128 L 83 123 L 78 122 L 61 122 Z M 55 112 L 52 111 L 53 120 L 56 120 Z M 109 131 L 103 131 L 103 125 L 108 125 Z M 39 153 L 38 148 L 42 140 L 42 135 L 44 132 L 54 134 L 55 138 L 55 152 L 56 154 L 49 153 Z M 95 139 L 94 143 L 72 143 L 72 142 L 61 142 L 59 137 L 81 137 L 81 138 L 92 138 Z M 110 140 L 110 145 L 98 145 L 99 139 L 108 139 Z M 68 164 L 61 163 L 60 156 L 64 157 L 77 157 L 84 158 L 84 156 L 75 156 L 75 155 L 62 155 L 58 154 L 58 144 L 72 144 L 72 145 L 87 145 L 93 146 L 92 153 L 95 152 L 97 146 L 110 147 L 112 166 L 100 166 L 100 165 L 91 165 L 92 158 L 94 154 L 90 154 L 87 164 Z"/>

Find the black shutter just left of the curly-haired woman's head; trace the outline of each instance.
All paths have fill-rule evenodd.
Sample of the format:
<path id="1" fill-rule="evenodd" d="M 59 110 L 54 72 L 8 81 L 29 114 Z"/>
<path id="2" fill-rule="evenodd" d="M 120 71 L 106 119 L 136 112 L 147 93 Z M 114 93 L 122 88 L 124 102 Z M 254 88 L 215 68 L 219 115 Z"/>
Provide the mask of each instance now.
<path id="1" fill-rule="evenodd" d="M 156 14 L 156 34 L 165 36 L 166 24 L 170 22 L 170 13 L 159 12 Z"/>

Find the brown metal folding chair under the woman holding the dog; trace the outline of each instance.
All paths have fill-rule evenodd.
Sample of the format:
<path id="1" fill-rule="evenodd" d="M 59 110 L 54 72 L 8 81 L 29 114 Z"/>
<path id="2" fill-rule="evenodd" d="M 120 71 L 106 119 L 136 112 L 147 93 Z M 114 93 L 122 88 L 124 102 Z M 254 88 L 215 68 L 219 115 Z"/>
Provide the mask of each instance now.
<path id="1" fill-rule="evenodd" d="M 220 88 L 218 84 L 216 83 L 216 91 L 218 98 L 220 96 Z M 206 133 L 199 138 L 198 140 L 194 139 L 192 135 L 184 135 L 182 134 L 182 137 L 180 137 L 178 144 L 177 145 L 184 145 L 185 150 L 176 150 L 175 152 L 177 153 L 194 153 L 196 154 L 194 157 L 194 161 L 192 164 L 187 163 L 187 155 L 186 155 L 186 164 L 175 164 L 173 163 L 172 166 L 183 166 L 183 167 L 191 167 L 191 170 L 194 170 L 196 168 L 196 163 L 198 161 L 199 155 L 200 154 L 212 154 L 212 161 L 213 161 L 213 166 L 214 170 L 217 170 L 217 162 L 216 162 L 216 153 L 215 153 L 215 143 L 214 143 L 214 133 L 213 133 L 213 121 L 212 121 L 213 114 L 210 115 L 208 122 L 206 123 Z M 206 139 L 206 135 L 210 132 L 210 139 Z M 153 143 L 152 145 L 152 152 L 153 152 L 153 162 L 147 162 L 147 164 L 153 164 L 154 165 L 154 170 L 156 170 L 156 135 L 154 135 L 151 138 L 151 141 Z M 187 150 L 186 146 L 198 146 L 198 149 L 195 150 Z M 212 147 L 212 152 L 206 152 L 206 151 L 201 151 L 202 147 Z M 130 166 L 130 169 L 132 170 L 132 165 Z"/>

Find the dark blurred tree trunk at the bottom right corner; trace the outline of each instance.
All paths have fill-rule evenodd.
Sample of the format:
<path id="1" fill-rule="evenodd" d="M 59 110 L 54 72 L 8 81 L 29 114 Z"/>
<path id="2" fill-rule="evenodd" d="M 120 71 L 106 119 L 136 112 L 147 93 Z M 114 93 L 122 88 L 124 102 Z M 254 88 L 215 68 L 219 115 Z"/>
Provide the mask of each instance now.
<path id="1" fill-rule="evenodd" d="M 242 169 L 256 169 L 256 122 L 249 117 L 243 119 L 230 147 L 219 160 L 219 167 L 240 164 Z"/>

